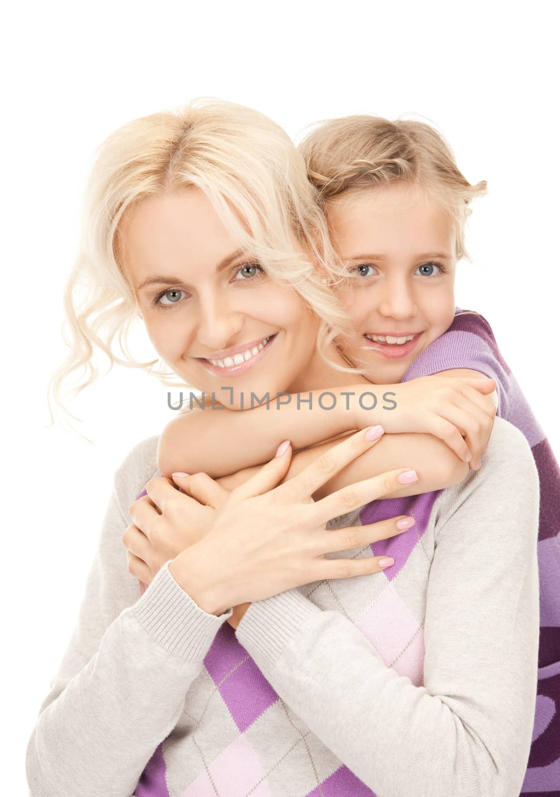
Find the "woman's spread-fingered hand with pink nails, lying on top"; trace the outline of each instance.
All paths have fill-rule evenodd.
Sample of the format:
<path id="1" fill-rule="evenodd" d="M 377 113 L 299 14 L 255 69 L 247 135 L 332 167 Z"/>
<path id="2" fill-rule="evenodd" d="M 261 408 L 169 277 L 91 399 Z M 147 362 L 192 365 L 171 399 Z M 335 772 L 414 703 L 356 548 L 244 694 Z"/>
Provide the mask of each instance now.
<path id="1" fill-rule="evenodd" d="M 377 437 L 366 437 L 376 430 Z M 368 450 L 382 431 L 376 427 L 353 434 L 274 488 L 288 471 L 288 446 L 256 476 L 233 489 L 210 531 L 170 563 L 171 575 L 198 606 L 219 616 L 242 601 L 265 599 L 305 583 L 381 571 L 386 557 L 325 559 L 325 554 L 395 536 L 410 528 L 413 518 L 399 516 L 336 531 L 327 531 L 327 521 L 416 481 L 417 474 L 401 468 L 359 481 L 321 501 L 313 501 L 312 495 Z M 389 559 L 388 565 L 392 563 Z"/>

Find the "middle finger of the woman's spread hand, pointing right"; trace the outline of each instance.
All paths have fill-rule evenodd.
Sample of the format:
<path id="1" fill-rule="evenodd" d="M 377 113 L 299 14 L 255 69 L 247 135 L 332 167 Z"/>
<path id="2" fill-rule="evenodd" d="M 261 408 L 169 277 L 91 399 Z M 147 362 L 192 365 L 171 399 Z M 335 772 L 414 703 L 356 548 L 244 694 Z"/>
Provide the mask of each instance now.
<path id="1" fill-rule="evenodd" d="M 356 481 L 353 485 L 347 485 L 320 501 L 315 501 L 315 504 L 309 505 L 309 511 L 319 523 L 327 523 L 333 517 L 358 509 L 370 501 L 386 496 L 387 493 L 394 493 L 403 485 L 412 485 L 417 479 L 417 473 L 410 468 L 388 470 L 370 479 Z"/>

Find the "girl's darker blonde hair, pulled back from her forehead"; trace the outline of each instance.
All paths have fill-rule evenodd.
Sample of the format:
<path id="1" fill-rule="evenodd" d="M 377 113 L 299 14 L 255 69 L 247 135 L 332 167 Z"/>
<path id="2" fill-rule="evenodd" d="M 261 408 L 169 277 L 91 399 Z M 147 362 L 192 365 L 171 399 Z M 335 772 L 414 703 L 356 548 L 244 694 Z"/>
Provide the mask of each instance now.
<path id="1" fill-rule="evenodd" d="M 319 123 L 298 148 L 326 212 L 343 194 L 346 198 L 372 186 L 406 183 L 440 203 L 456 228 L 457 260 L 467 257 L 464 226 L 470 203 L 486 193 L 487 184 L 468 182 L 447 141 L 429 124 L 345 116 Z"/>

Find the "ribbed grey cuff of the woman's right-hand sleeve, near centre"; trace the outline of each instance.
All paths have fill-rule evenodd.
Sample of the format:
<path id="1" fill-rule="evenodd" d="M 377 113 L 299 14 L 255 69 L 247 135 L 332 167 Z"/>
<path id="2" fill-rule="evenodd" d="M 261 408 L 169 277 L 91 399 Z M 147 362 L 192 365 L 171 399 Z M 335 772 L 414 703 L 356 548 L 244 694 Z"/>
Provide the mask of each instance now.
<path id="1" fill-rule="evenodd" d="M 252 603 L 237 626 L 236 637 L 264 677 L 307 620 L 321 612 L 297 590 Z"/>

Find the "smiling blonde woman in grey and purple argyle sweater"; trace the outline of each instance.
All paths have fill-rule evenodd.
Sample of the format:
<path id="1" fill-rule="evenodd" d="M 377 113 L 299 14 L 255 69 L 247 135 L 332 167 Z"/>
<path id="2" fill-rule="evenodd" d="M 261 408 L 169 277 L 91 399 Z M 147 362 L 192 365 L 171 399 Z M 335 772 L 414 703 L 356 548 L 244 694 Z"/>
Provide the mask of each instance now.
<path id="1" fill-rule="evenodd" d="M 330 268 L 326 236 L 306 186 L 303 162 L 280 129 L 237 106 L 205 104 L 118 131 L 94 171 L 88 249 L 78 269 L 97 277 L 99 293 L 79 308 L 69 289 L 78 341 L 70 366 L 82 352 L 89 361 L 92 341 L 108 347 L 118 323 L 139 313 L 164 362 L 199 389 L 214 385 L 205 364 L 211 355 L 266 341 L 236 383 L 237 410 L 250 391 L 307 395 L 347 385 L 351 371 L 328 342 L 346 318 L 322 282 Z M 148 283 L 156 278 L 154 289 Z M 177 308 L 160 310 L 182 285 L 194 301 L 184 296 Z M 115 302 L 118 321 L 111 324 L 111 313 L 92 319 L 92 308 Z M 355 375 L 350 384 L 371 387 Z M 231 392 L 217 387 L 224 406 Z M 534 709 L 533 669 L 522 671 L 514 642 L 522 634 L 523 653 L 531 658 L 536 650 L 531 453 L 523 435 L 496 423 L 480 471 L 465 479 L 468 465 L 440 439 L 399 434 L 375 442 L 382 429 L 372 432 L 347 438 L 266 492 L 289 475 L 284 441 L 268 469 L 229 496 L 199 480 L 193 492 L 206 492 L 205 505 L 157 477 L 157 438 L 132 450 L 116 473 L 76 633 L 29 740 L 32 795 L 513 793 Z M 483 438 L 473 438 L 479 453 Z M 383 473 L 397 450 L 388 442 L 404 446 L 407 467 L 400 458 Z M 384 557 L 368 553 L 407 532 L 399 534 L 394 515 L 352 527 L 367 501 L 418 489 L 410 468 L 422 471 L 414 457 L 434 443 L 443 461 L 450 453 L 459 463 L 453 479 L 460 484 L 421 518 L 423 556 L 398 600 L 401 609 L 425 612 L 425 657 L 415 634 L 401 662 L 411 677 L 401 677 L 378 653 L 394 636 L 401 642 L 402 626 L 390 626 L 394 587 L 384 599 L 390 567 L 382 571 Z M 379 468 L 369 455 L 382 445 Z M 333 492 L 359 455 L 362 478 L 370 479 Z M 424 489 L 444 486 L 438 465 L 437 478 L 421 473 Z M 133 503 L 146 481 L 149 498 Z M 502 493 L 511 496 L 507 510 L 497 501 L 489 511 L 489 496 Z M 198 541 L 187 525 L 195 512 L 204 532 Z M 505 544 L 504 523 L 519 527 L 513 545 Z M 122 545 L 135 531 L 146 533 L 132 565 L 143 561 L 151 576 L 141 598 L 140 574 L 127 566 Z M 151 554 L 170 544 L 178 550 L 162 566 Z M 480 567 L 489 548 L 495 561 Z M 346 552 L 342 561 L 337 552 Z M 460 571 L 472 586 L 457 583 Z M 515 622 L 499 611 L 503 591 L 523 605 Z M 234 634 L 225 620 L 243 601 L 253 603 Z M 381 637 L 372 643 L 376 626 Z M 427 685 L 417 669 L 421 652 Z"/>

